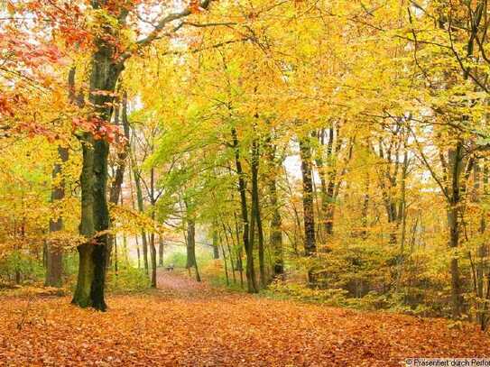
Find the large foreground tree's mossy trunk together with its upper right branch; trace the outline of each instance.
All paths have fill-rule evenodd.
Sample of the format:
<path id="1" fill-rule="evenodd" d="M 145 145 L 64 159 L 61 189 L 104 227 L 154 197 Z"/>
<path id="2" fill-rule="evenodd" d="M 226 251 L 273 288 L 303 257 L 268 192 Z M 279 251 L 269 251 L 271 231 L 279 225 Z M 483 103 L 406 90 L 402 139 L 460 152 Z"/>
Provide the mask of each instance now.
<path id="1" fill-rule="evenodd" d="M 204 0 L 200 3 L 200 7 L 207 8 L 209 3 L 210 0 Z M 129 9 L 125 7 L 111 9 L 110 5 L 101 1 L 93 2 L 92 7 L 102 13 L 110 14 L 102 18 L 99 32 L 94 37 L 88 91 L 88 101 L 93 106 L 93 112 L 88 118 L 95 121 L 97 129 L 102 131 L 104 126 L 110 123 L 116 83 L 124 69 L 125 61 L 132 55 L 133 50 L 119 52 L 119 34 L 110 23 L 112 16 L 117 23 L 125 25 Z M 148 36 L 136 41 L 136 47 L 148 45 L 158 37 L 168 23 L 190 14 L 190 7 L 187 7 L 180 13 L 162 17 Z M 106 198 L 109 142 L 91 132 L 82 133 L 80 141 L 83 150 L 83 167 L 80 176 L 82 208 L 80 234 L 88 238 L 88 243 L 78 247 L 79 276 L 72 302 L 80 307 L 105 310 L 106 247 L 110 222 Z"/>

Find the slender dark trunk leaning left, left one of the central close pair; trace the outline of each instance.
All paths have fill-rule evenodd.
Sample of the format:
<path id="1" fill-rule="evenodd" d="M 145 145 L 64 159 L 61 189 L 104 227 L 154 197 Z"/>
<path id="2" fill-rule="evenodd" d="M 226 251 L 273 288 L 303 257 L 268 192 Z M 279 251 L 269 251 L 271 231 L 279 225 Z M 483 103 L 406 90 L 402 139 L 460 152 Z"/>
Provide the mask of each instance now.
<path id="1" fill-rule="evenodd" d="M 255 269 L 254 269 L 254 243 L 250 239 L 249 234 L 251 231 L 249 230 L 249 220 L 248 220 L 248 208 L 246 204 L 246 183 L 244 171 L 242 169 L 242 161 L 240 159 L 240 148 L 238 145 L 238 137 L 236 134 L 236 129 L 233 127 L 231 129 L 231 135 L 233 139 L 233 148 L 235 150 L 235 164 L 236 164 L 236 173 L 238 174 L 238 190 L 240 192 L 240 207 L 242 211 L 242 220 L 244 225 L 243 230 L 243 242 L 246 252 L 246 280 L 247 287 L 249 293 L 257 293 L 257 280 L 255 278 Z"/>

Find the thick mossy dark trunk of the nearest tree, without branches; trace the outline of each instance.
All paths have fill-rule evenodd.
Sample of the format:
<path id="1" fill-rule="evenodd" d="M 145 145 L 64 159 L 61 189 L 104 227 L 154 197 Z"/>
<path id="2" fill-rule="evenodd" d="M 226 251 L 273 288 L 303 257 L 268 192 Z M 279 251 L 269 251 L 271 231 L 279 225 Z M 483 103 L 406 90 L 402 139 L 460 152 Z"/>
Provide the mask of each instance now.
<path id="1" fill-rule="evenodd" d="M 96 3 L 95 8 L 100 5 Z M 110 33 L 110 28 L 106 27 Z M 116 47 L 106 37 L 95 41 L 90 71 L 89 101 L 96 118 L 109 124 L 116 82 L 123 65 L 115 61 Z M 105 93 L 98 93 L 103 91 Z M 79 277 L 72 302 L 80 307 L 106 310 L 106 247 L 108 243 L 109 211 L 107 207 L 107 156 L 109 143 L 96 140 L 92 133 L 81 136 L 83 161 L 80 176 L 81 222 L 79 232 L 88 240 L 79 245 Z"/>

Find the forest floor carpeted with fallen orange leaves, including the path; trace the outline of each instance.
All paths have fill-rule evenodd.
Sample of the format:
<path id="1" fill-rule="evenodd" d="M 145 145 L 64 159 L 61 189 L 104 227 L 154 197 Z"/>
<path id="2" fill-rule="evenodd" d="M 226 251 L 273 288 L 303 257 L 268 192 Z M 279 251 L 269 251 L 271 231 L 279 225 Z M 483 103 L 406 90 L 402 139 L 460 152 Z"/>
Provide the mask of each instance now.
<path id="1" fill-rule="evenodd" d="M 105 313 L 68 297 L 0 296 L 0 365 L 400 366 L 490 356 L 490 335 L 472 325 L 232 293 L 170 271 L 158 283 L 109 296 Z"/>

